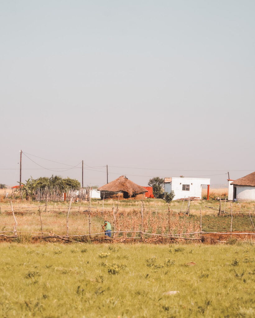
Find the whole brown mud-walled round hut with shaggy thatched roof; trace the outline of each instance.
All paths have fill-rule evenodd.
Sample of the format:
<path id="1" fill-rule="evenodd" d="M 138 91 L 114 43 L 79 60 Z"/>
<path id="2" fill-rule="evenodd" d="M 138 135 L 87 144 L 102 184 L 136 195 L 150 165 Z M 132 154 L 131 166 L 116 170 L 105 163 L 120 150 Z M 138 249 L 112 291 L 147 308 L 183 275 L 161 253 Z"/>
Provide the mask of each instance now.
<path id="1" fill-rule="evenodd" d="M 116 180 L 109 182 L 98 188 L 101 191 L 101 198 L 106 199 L 142 199 L 146 190 L 140 185 L 128 180 L 126 176 L 120 176 Z"/>

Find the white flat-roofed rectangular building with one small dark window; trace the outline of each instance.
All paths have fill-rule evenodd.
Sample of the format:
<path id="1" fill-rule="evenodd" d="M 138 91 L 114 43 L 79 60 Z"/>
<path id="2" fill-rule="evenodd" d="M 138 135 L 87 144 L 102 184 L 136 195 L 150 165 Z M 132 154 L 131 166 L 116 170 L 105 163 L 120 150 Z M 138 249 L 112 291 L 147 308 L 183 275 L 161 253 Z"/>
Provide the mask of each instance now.
<path id="1" fill-rule="evenodd" d="M 202 185 L 207 185 L 209 190 L 210 179 L 201 178 L 165 178 L 165 192 L 174 190 L 174 200 L 184 197 L 202 198 Z M 209 193 L 209 192 L 208 192 Z"/>

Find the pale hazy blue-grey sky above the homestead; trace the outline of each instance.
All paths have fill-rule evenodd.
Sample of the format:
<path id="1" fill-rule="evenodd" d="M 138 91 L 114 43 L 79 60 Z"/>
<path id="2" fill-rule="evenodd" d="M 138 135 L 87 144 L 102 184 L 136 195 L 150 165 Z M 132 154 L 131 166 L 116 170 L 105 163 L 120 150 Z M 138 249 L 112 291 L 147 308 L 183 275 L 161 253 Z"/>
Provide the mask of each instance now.
<path id="1" fill-rule="evenodd" d="M 255 171 L 255 2 L 0 2 L 0 183 Z M 42 159 L 44 158 L 44 159 Z M 47 159 L 47 160 L 45 160 Z M 51 160 L 51 161 L 49 161 Z M 46 168 L 46 169 L 45 169 Z"/>

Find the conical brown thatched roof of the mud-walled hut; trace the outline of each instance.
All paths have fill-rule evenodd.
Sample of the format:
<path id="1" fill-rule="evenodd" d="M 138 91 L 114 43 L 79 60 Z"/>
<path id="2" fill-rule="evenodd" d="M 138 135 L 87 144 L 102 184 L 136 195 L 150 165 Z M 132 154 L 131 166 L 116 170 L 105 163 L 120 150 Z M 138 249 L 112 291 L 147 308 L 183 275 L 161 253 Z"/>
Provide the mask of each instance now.
<path id="1" fill-rule="evenodd" d="M 100 191 L 118 192 L 125 191 L 131 197 L 133 194 L 139 194 L 143 192 L 148 192 L 145 188 L 140 185 L 128 180 L 125 176 L 120 176 L 116 180 L 109 182 L 102 187 L 98 188 Z"/>

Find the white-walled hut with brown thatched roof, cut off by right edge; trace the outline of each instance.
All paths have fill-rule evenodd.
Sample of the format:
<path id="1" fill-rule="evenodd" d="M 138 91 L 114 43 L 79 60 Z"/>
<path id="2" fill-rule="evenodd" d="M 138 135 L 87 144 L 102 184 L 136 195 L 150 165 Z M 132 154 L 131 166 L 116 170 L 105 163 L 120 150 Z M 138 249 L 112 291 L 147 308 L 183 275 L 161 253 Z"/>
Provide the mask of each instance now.
<path id="1" fill-rule="evenodd" d="M 229 200 L 255 201 L 255 172 L 231 181 L 229 180 Z"/>

